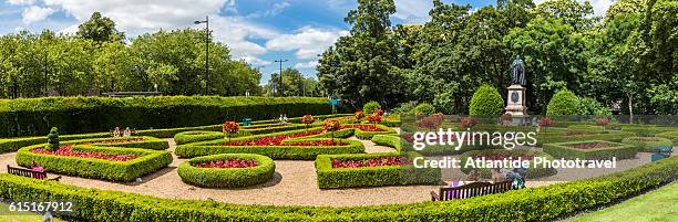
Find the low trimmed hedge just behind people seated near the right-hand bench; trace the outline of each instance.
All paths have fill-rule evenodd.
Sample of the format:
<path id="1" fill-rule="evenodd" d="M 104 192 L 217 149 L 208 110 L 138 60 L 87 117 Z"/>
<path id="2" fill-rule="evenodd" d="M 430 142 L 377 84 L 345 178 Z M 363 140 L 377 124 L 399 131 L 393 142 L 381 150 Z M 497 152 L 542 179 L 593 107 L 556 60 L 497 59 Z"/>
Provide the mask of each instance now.
<path id="1" fill-rule="evenodd" d="M 464 152 L 463 155 L 461 155 L 460 160 L 461 160 L 461 171 L 464 173 L 469 173 L 473 168 L 468 168 L 465 166 L 465 162 L 469 160 L 469 158 L 475 156 L 475 155 L 487 155 L 487 154 L 513 154 L 513 155 L 531 155 L 531 156 L 535 156 L 535 157 L 544 157 L 546 159 L 553 160 L 553 157 L 546 152 L 543 151 L 535 151 L 535 150 L 526 150 L 526 149 L 513 149 L 513 150 L 506 150 L 506 149 L 490 149 L 490 150 L 472 150 L 472 151 L 468 151 Z M 532 161 L 530 161 L 530 166 L 532 165 Z M 480 173 L 480 176 L 482 178 L 491 178 L 492 173 L 490 172 L 490 169 L 487 168 L 480 168 L 477 169 L 477 172 Z M 554 168 L 543 168 L 543 167 L 538 167 L 538 168 L 527 168 L 527 179 L 536 179 L 536 178 L 543 178 L 543 177 L 548 177 L 548 176 L 553 176 L 557 173 L 556 169 Z"/>

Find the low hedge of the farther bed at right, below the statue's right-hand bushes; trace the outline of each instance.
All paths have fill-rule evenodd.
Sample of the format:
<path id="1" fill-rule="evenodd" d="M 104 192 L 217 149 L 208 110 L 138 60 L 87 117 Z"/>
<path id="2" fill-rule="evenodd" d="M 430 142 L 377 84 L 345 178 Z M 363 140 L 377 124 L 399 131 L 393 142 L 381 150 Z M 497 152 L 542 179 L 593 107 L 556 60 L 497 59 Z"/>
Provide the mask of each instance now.
<path id="1" fill-rule="evenodd" d="M 537 146 L 545 144 L 566 142 L 566 141 L 585 141 L 585 140 L 606 140 L 622 141 L 624 138 L 635 137 L 631 131 L 606 131 L 603 134 L 590 135 L 572 135 L 567 136 L 565 131 L 551 131 L 537 134 Z"/>

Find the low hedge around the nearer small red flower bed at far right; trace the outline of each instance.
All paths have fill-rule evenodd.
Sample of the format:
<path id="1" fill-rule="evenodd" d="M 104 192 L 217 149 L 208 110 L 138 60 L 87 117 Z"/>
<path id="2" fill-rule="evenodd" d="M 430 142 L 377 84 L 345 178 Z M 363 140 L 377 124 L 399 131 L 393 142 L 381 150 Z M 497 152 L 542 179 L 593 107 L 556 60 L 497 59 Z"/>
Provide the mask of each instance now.
<path id="1" fill-rule="evenodd" d="M 609 147 L 592 149 L 577 149 L 568 147 L 582 144 L 606 144 Z M 549 154 L 555 158 L 579 158 L 583 160 L 608 160 L 613 157 L 616 157 L 617 159 L 630 159 L 636 157 L 636 154 L 638 152 L 638 149 L 631 145 L 603 140 L 545 144 L 543 149 L 544 152 Z"/>

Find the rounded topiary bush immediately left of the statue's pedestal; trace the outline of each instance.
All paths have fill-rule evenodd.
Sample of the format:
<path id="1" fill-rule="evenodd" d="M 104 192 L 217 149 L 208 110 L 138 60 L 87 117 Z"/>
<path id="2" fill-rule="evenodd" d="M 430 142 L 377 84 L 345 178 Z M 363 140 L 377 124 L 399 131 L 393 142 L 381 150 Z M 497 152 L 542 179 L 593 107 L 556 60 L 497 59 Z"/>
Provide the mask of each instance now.
<path id="1" fill-rule="evenodd" d="M 469 115 L 472 116 L 496 116 L 504 110 L 504 99 L 496 88 L 491 85 L 479 87 L 469 105 Z"/>

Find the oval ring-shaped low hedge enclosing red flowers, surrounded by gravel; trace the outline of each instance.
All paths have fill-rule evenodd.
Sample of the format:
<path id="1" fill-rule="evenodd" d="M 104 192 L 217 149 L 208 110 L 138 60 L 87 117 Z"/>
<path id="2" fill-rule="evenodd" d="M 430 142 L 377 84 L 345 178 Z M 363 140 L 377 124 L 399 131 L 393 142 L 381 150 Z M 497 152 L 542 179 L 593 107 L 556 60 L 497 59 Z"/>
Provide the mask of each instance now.
<path id="1" fill-rule="evenodd" d="M 269 181 L 276 165 L 269 157 L 226 154 L 193 158 L 179 165 L 182 181 L 202 188 L 242 188 Z"/>

